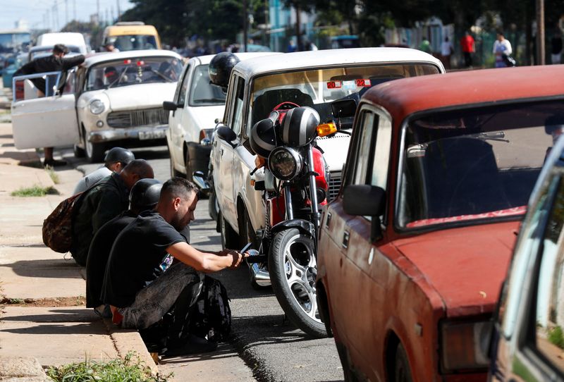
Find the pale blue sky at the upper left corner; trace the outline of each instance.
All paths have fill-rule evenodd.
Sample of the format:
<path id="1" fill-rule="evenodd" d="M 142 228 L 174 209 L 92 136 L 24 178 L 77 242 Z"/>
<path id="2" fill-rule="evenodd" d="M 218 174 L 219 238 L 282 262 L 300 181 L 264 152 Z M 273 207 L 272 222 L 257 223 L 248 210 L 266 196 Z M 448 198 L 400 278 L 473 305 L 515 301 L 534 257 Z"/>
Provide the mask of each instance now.
<path id="1" fill-rule="evenodd" d="M 101 20 L 106 15 L 110 20 L 116 18 L 118 6 L 121 13 L 133 6 L 129 0 L 0 0 L 0 30 L 13 29 L 18 20 L 24 20 L 30 29 L 58 31 L 66 24 L 67 13 L 68 21 L 74 15 L 79 21 L 90 21 L 97 4 Z"/>

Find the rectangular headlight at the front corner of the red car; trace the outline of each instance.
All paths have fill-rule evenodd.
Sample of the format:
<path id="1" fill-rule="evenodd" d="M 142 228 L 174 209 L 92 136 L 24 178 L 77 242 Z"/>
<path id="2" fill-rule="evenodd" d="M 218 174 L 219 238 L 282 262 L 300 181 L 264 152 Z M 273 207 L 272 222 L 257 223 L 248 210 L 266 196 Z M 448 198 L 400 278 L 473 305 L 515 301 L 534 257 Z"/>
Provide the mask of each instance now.
<path id="1" fill-rule="evenodd" d="M 441 324 L 443 371 L 484 369 L 489 365 L 491 321 L 445 322 Z"/>

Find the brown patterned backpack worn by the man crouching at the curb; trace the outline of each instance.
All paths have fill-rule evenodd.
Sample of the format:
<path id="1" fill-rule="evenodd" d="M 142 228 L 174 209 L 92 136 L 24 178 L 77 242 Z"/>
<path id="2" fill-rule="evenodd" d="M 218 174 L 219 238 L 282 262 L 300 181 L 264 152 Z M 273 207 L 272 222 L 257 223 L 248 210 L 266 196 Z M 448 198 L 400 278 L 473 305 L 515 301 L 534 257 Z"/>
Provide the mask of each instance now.
<path id="1" fill-rule="evenodd" d="M 90 189 L 89 189 L 90 190 Z M 43 221 L 43 242 L 55 252 L 66 253 L 73 243 L 73 211 L 78 210 L 79 200 L 85 192 L 64 199 Z"/>

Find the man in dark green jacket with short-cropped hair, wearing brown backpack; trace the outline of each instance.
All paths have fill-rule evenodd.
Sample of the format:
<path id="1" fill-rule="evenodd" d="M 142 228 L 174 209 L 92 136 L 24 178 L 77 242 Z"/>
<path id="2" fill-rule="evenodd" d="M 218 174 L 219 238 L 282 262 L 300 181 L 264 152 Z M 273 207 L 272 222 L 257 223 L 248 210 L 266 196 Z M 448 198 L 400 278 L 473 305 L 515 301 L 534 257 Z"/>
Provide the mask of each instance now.
<path id="1" fill-rule="evenodd" d="M 131 187 L 137 180 L 154 178 L 153 168 L 144 159 L 135 159 L 120 173 L 111 173 L 80 197 L 80 206 L 73 221 L 71 254 L 86 265 L 92 238 L 105 223 L 128 208 Z"/>

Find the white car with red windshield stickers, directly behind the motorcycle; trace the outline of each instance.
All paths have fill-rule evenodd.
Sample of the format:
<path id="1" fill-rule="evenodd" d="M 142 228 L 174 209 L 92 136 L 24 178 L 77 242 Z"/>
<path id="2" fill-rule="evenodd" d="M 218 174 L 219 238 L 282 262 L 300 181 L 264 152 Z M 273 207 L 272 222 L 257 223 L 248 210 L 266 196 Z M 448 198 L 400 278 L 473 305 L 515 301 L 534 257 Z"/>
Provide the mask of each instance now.
<path id="1" fill-rule="evenodd" d="M 266 207 L 262 192 L 253 184 L 263 177 L 255 168 L 255 156 L 246 148 L 252 125 L 269 116 L 283 101 L 311 106 L 321 123 L 333 121 L 331 102 L 356 98 L 381 82 L 398 78 L 444 73 L 441 62 L 415 49 L 359 48 L 303 51 L 252 58 L 238 63 L 231 72 L 223 125 L 228 135 L 216 134 L 212 149 L 214 195 L 219 206 L 218 226 L 223 245 L 238 248 L 264 228 Z M 349 121 L 350 120 L 350 121 Z M 317 144 L 331 180 L 329 201 L 341 187 L 341 170 L 347 157 L 352 118 L 339 121 L 343 132 L 319 138 Z M 214 209 L 210 208 L 210 214 Z"/>

